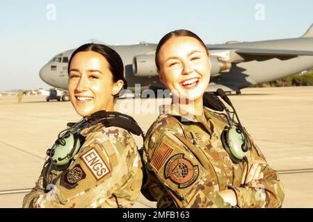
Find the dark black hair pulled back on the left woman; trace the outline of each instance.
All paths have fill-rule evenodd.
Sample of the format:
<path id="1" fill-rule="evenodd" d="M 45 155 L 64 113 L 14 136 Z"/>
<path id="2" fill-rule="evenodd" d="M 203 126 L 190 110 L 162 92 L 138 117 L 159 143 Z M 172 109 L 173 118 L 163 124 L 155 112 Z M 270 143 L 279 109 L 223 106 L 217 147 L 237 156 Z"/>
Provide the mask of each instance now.
<path id="1" fill-rule="evenodd" d="M 105 46 L 104 44 L 95 44 L 95 43 L 88 43 L 79 46 L 73 53 L 68 62 L 67 73 L 70 74 L 70 64 L 74 56 L 81 52 L 81 51 L 94 51 L 96 53 L 101 54 L 106 61 L 109 63 L 109 69 L 113 75 L 113 81 L 116 83 L 118 80 L 123 80 L 124 85 L 123 88 L 127 88 L 127 81 L 124 77 L 124 65 L 122 62 L 122 58 L 118 53 L 111 49 L 109 46 Z"/>

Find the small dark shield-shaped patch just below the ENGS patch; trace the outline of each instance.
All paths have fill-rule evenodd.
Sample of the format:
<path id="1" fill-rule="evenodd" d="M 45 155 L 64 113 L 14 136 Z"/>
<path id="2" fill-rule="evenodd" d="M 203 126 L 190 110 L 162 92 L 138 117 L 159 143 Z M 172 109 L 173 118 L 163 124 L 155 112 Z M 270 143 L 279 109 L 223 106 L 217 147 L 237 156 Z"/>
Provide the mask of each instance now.
<path id="1" fill-rule="evenodd" d="M 73 189 L 77 186 L 79 180 L 86 178 L 86 173 L 83 171 L 79 164 L 76 164 L 70 171 L 66 171 L 64 176 L 61 178 L 60 185 L 67 188 Z"/>

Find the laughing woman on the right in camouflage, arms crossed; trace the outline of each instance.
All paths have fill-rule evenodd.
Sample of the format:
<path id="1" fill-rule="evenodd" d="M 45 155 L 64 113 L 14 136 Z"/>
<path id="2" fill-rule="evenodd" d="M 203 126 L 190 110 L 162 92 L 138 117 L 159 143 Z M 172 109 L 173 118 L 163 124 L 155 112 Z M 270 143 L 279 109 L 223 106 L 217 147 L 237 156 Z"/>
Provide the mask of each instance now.
<path id="1" fill-rule="evenodd" d="M 281 207 L 278 173 L 250 135 L 248 164 L 235 164 L 220 139 L 229 124 L 225 114 L 203 106 L 211 64 L 202 40 L 186 30 L 168 33 L 156 64 L 173 100 L 145 137 L 143 194 L 157 207 Z"/>

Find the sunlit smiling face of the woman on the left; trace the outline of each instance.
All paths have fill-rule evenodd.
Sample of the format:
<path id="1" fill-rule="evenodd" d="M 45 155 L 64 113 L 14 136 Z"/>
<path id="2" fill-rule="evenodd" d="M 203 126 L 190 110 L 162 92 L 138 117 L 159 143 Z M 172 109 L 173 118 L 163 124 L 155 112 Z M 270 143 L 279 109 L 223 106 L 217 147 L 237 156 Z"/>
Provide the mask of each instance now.
<path id="1" fill-rule="evenodd" d="M 120 92 L 122 80 L 113 83 L 109 63 L 94 51 L 77 53 L 70 64 L 70 101 L 82 117 L 99 110 L 113 111 L 113 96 Z"/>

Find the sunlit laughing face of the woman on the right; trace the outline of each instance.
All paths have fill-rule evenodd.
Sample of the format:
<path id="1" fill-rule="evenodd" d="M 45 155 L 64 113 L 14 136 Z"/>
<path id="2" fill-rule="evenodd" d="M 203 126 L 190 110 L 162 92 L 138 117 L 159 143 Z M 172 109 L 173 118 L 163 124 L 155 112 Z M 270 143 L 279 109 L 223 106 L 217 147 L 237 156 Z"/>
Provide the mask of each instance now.
<path id="1" fill-rule="evenodd" d="M 159 51 L 159 77 L 170 92 L 187 101 L 202 100 L 210 79 L 207 49 L 193 37 L 172 37 Z"/>

